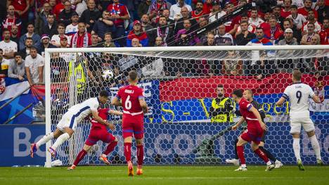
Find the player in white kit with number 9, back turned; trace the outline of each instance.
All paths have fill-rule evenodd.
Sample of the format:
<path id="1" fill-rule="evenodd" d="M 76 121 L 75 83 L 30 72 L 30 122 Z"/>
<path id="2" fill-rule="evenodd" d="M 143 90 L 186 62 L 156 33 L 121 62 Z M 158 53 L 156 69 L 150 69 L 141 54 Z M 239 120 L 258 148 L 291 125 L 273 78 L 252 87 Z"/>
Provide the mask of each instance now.
<path id="1" fill-rule="evenodd" d="M 299 135 L 301 127 L 307 132 L 311 145 L 316 154 L 316 162 L 318 165 L 323 165 L 321 159 L 321 148 L 318 144 L 318 139 L 315 135 L 314 123 L 309 116 L 309 97 L 315 103 L 320 103 L 320 98 L 314 94 L 314 91 L 307 84 L 303 84 L 300 80 L 302 72 L 295 69 L 292 73 L 293 84 L 285 88 L 283 96 L 276 102 L 276 106 L 282 106 L 285 100 L 290 101 L 290 134 L 292 134 L 292 148 L 294 149 L 295 157 L 297 158 L 297 165 L 299 170 L 304 171 L 304 166 L 300 158 L 300 144 Z"/>

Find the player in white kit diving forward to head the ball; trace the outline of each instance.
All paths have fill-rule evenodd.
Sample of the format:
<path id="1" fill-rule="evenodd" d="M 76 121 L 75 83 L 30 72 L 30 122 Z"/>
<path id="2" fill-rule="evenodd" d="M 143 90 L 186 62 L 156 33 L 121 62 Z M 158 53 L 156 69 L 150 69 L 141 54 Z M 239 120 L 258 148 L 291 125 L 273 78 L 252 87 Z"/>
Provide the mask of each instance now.
<path id="1" fill-rule="evenodd" d="M 33 158 L 34 153 L 37 152 L 37 149 L 41 145 L 55 138 L 56 141 L 55 143 L 53 143 L 53 146 L 48 148 L 48 151 L 51 153 L 51 156 L 55 158 L 56 148 L 65 141 L 67 141 L 67 139 L 70 139 L 72 134 L 74 134 L 75 129 L 77 128 L 77 124 L 84 120 L 84 117 L 87 117 L 89 115 L 93 115 L 93 119 L 97 122 L 103 125 L 107 125 L 108 127 L 110 127 L 110 129 L 114 129 L 114 125 L 99 117 L 97 111 L 100 103 L 106 103 L 108 101 L 108 96 L 108 91 L 103 90 L 99 92 L 98 97 L 89 98 L 86 101 L 83 101 L 82 103 L 72 106 L 69 110 L 67 110 L 67 113 L 63 115 L 60 122 L 58 122 L 55 132 L 46 134 L 39 141 L 37 141 L 37 143 L 31 144 L 31 157 Z"/>

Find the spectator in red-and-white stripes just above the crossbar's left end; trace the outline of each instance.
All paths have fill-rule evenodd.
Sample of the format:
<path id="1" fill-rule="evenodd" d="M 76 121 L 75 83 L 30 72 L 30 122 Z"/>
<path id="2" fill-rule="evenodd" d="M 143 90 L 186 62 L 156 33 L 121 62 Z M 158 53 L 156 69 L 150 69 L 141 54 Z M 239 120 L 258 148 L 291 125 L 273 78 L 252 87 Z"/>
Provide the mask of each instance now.
<path id="1" fill-rule="evenodd" d="M 72 48 L 86 48 L 91 45 L 91 36 L 86 32 L 86 25 L 84 23 L 78 24 L 78 32 L 73 34 L 71 39 Z"/>

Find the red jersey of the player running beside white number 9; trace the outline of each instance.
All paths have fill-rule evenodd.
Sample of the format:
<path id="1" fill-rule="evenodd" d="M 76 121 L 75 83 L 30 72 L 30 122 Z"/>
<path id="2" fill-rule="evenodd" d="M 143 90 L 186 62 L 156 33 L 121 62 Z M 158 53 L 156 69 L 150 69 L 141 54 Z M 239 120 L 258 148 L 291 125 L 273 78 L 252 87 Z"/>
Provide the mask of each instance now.
<path id="1" fill-rule="evenodd" d="M 250 112 L 252 108 L 252 103 L 247 101 L 245 98 L 242 98 L 239 102 L 240 113 L 245 118 L 247 122 L 247 129 L 248 130 L 263 130 L 260 126 L 257 117 L 254 113 Z"/>

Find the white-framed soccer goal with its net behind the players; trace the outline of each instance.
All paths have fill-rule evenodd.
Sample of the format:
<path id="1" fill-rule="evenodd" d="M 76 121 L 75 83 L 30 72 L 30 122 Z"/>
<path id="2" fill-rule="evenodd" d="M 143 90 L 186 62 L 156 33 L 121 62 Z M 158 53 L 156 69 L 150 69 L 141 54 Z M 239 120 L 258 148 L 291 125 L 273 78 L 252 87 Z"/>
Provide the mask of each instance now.
<path id="1" fill-rule="evenodd" d="M 275 102 L 292 83 L 292 70 L 299 68 L 302 82 L 321 98 L 319 104 L 310 100 L 309 110 L 323 161 L 328 161 L 328 51 L 328 45 L 46 49 L 46 133 L 56 129 L 68 108 L 97 96 L 101 89 L 115 96 L 119 87 L 127 84 L 127 73 L 136 70 L 150 108 L 144 119 L 146 165 L 217 165 L 234 158 L 233 146 L 242 129 L 230 131 L 238 120 L 236 104 L 230 98 L 233 89 L 252 90 L 269 126 L 265 147 L 284 164 L 291 164 L 295 159 L 289 105 L 276 107 Z M 224 97 L 217 93 L 221 86 Z M 232 108 L 227 109 L 226 104 Z M 112 164 L 122 164 L 121 118 L 108 119 L 115 123 L 113 134 L 120 139 L 109 159 Z M 63 165 L 72 164 L 90 127 L 89 121 L 80 123 L 72 138 L 57 149 Z M 303 161 L 312 164 L 315 156 L 305 134 L 302 139 Z M 101 164 L 98 156 L 105 147 L 101 141 L 96 143 L 80 164 Z M 248 163 L 262 164 L 249 146 L 245 148 Z M 132 151 L 136 155 L 136 148 Z M 51 167 L 49 153 L 46 167 Z"/>

